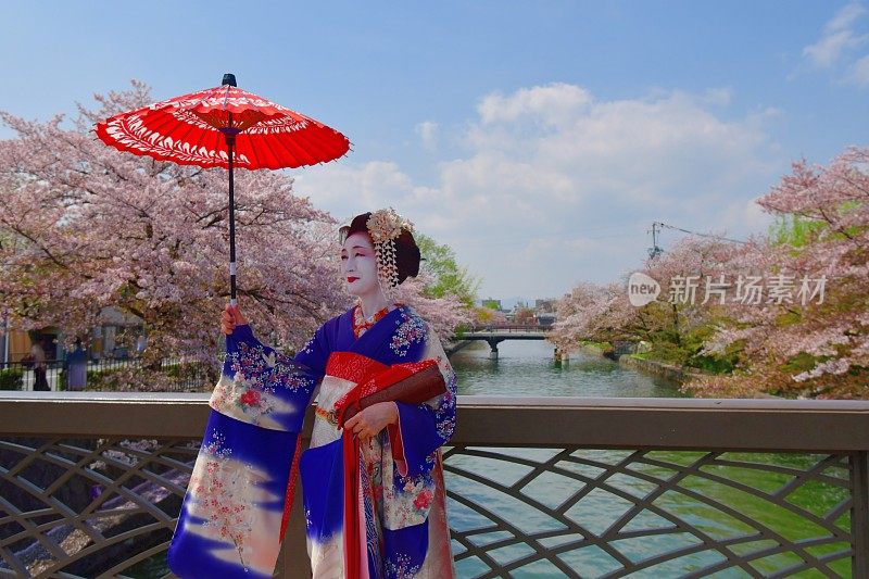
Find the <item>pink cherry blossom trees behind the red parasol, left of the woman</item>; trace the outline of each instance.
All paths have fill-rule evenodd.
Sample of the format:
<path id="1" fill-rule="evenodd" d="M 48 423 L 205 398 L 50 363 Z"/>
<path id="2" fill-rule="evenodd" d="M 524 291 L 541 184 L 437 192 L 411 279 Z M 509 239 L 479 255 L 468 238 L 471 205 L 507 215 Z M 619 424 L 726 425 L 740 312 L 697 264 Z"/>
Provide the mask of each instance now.
<path id="1" fill-rule="evenodd" d="M 72 123 L 0 113 L 17 134 L 0 141 L 0 294 L 11 323 L 58 326 L 68 345 L 111 305 L 143 320 L 147 361 L 184 355 L 215 366 L 229 294 L 226 172 L 121 153 L 96 138 L 97 121 L 153 100 L 146 85 L 96 100 Z M 332 219 L 281 173 L 236 179 L 239 303 L 264 338 L 299 345 L 347 305 L 323 234 Z M 134 388 L 152 383 L 128 378 Z"/>

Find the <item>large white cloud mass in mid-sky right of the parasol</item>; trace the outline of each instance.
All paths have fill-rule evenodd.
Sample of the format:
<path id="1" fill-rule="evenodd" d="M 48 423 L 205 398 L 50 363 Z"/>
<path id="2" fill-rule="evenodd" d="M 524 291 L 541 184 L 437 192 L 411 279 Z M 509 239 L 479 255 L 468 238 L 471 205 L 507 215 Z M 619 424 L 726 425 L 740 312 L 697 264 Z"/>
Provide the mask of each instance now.
<path id="1" fill-rule="evenodd" d="M 774 115 L 726 119 L 714 111 L 729 100 L 599 101 L 564 84 L 492 93 L 433 182 L 393 162 L 342 162 L 306 169 L 297 191 L 338 217 L 394 206 L 452 246 L 482 293 L 558 295 L 635 268 L 653 221 L 734 237 L 761 226 L 752 200 L 784 168 L 765 130 Z"/>

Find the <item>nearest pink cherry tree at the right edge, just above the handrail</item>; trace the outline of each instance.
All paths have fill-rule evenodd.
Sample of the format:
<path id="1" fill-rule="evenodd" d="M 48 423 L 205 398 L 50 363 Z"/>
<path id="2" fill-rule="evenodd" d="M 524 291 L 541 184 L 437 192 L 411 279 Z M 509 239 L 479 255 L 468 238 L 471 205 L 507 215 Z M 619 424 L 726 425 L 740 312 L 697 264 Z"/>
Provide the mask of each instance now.
<path id="1" fill-rule="evenodd" d="M 869 397 L 868 167 L 865 148 L 846 151 L 829 166 L 802 161 L 758 200 L 773 215 L 811 226 L 734 261 L 776 276 L 786 291 L 767 295 L 759 306 L 730 305 L 732 323 L 722 325 L 707 350 L 741 344 L 745 363 L 733 376 L 689 385 L 692 391 Z"/>

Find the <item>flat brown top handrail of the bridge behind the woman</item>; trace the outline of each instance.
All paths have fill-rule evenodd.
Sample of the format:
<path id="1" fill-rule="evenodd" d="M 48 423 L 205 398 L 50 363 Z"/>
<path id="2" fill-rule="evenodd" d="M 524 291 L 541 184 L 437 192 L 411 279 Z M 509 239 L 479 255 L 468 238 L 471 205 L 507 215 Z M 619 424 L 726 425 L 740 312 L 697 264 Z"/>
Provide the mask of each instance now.
<path id="1" fill-rule="evenodd" d="M 196 438 L 209 395 L 0 391 L 0 436 Z M 861 400 L 459 395 L 458 414 L 454 440 L 479 444 L 869 451 Z"/>

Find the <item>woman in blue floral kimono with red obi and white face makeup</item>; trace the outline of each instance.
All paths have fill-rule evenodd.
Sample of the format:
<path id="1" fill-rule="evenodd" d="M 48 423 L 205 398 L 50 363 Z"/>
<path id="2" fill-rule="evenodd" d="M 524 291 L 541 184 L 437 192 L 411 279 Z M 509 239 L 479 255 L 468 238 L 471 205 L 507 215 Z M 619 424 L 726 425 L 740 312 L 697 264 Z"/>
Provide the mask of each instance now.
<path id="1" fill-rule="evenodd" d="M 381 210 L 341 237 L 356 304 L 293 358 L 256 340 L 238 307 L 224 312 L 227 357 L 168 553 L 180 577 L 270 577 L 297 465 L 315 579 L 454 576 L 440 448 L 455 375 L 428 324 L 390 299 L 419 269 L 413 227 Z"/>

